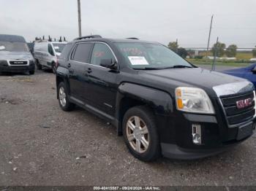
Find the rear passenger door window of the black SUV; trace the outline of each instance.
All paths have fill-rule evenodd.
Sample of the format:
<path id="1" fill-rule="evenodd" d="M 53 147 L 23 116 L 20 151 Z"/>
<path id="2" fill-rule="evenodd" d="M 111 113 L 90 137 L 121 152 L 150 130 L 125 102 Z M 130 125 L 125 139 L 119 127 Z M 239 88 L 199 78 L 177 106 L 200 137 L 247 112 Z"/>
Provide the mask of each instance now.
<path id="1" fill-rule="evenodd" d="M 82 63 L 89 63 L 91 48 L 93 43 L 80 43 L 75 49 L 75 53 L 72 55 L 73 61 L 78 61 Z"/>

